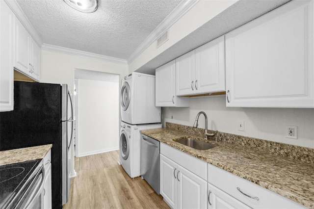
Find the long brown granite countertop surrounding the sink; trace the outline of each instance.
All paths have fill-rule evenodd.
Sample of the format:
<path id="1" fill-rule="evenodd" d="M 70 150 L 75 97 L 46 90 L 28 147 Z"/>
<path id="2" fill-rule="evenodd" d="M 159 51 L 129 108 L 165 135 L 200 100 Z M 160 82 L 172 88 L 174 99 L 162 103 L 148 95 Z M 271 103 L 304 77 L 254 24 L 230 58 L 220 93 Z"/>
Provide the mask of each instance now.
<path id="1" fill-rule="evenodd" d="M 143 134 L 202 159 L 308 208 L 314 208 L 314 164 L 276 156 L 228 142 L 210 141 L 216 147 L 196 150 L 174 140 L 202 136 L 170 128 L 142 130 Z"/>

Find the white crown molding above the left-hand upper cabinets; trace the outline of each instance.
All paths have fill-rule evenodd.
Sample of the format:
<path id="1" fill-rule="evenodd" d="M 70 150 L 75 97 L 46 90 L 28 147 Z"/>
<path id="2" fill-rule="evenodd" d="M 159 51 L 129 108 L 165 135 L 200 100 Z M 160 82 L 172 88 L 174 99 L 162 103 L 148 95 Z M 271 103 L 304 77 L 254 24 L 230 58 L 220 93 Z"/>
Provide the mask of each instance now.
<path id="1" fill-rule="evenodd" d="M 39 47 L 43 45 L 43 41 L 41 40 L 40 36 L 38 35 L 35 28 L 31 25 L 28 18 L 26 17 L 25 13 L 21 9 L 20 5 L 16 0 L 4 0 L 6 4 L 11 8 L 13 13 L 17 16 L 17 18 L 21 21 L 22 25 L 26 28 L 28 33 L 34 39 Z"/>

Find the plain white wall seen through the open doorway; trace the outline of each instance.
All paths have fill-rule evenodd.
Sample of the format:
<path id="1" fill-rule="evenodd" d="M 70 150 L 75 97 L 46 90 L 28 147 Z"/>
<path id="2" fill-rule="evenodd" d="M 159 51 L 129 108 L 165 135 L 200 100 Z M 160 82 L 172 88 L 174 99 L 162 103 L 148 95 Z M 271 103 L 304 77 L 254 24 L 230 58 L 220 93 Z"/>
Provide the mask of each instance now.
<path id="1" fill-rule="evenodd" d="M 78 79 L 78 157 L 119 149 L 119 87 Z"/>

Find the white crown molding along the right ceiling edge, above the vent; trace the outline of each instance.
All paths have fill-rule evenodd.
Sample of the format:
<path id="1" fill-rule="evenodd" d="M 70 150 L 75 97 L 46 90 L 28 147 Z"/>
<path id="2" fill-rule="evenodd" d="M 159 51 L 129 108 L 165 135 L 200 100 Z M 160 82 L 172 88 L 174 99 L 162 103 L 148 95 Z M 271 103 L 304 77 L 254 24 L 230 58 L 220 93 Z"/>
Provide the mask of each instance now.
<path id="1" fill-rule="evenodd" d="M 156 39 L 165 32 L 170 26 L 177 22 L 188 10 L 190 10 L 199 0 L 183 0 L 178 6 L 148 35 L 148 37 L 136 48 L 128 58 L 128 63 L 134 61 L 144 52 Z"/>

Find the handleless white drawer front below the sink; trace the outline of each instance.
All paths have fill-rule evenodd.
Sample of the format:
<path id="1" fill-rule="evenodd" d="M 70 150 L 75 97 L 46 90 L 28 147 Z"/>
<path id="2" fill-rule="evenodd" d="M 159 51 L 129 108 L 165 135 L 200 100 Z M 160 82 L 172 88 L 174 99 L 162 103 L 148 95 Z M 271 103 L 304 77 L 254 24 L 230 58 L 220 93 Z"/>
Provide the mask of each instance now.
<path id="1" fill-rule="evenodd" d="M 207 180 L 207 162 L 188 155 L 176 148 L 160 142 L 160 154 L 170 158 L 182 165 L 187 170 L 193 172 L 204 180 Z"/>

